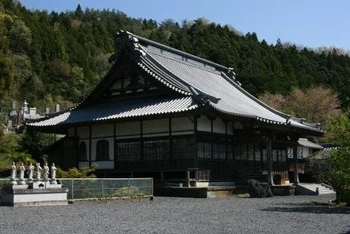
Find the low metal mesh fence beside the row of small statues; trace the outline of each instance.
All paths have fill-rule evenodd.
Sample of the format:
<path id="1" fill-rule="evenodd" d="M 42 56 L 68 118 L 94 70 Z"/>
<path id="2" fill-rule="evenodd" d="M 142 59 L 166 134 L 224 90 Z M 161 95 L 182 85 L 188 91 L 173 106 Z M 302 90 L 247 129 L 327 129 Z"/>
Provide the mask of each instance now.
<path id="1" fill-rule="evenodd" d="M 69 200 L 153 196 L 152 178 L 60 178 L 57 181 L 68 188 Z M 9 179 L 0 179 L 0 190 L 8 183 Z"/>

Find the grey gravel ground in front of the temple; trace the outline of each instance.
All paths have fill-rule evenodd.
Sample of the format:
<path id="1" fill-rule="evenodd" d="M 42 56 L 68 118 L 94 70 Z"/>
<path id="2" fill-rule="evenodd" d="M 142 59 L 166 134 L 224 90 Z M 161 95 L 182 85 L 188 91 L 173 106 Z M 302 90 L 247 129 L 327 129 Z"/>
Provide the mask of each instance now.
<path id="1" fill-rule="evenodd" d="M 0 207 L 0 233 L 350 233 L 350 208 L 312 205 L 333 195 L 165 198 Z"/>

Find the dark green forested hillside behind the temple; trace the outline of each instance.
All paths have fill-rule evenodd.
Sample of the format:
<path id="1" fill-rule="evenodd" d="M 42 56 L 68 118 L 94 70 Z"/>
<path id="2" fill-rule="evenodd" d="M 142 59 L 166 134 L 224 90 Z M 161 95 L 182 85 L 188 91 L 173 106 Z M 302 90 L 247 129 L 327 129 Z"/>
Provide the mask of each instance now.
<path id="1" fill-rule="evenodd" d="M 341 50 L 316 51 L 279 40 L 269 45 L 255 33 L 242 35 L 202 18 L 156 22 L 79 5 L 65 13 L 31 11 L 0 0 L 0 111 L 7 111 L 11 100 L 26 99 L 39 112 L 82 100 L 109 69 L 119 30 L 232 67 L 256 96 L 323 85 L 339 94 L 343 107 L 350 104 L 350 57 Z"/>

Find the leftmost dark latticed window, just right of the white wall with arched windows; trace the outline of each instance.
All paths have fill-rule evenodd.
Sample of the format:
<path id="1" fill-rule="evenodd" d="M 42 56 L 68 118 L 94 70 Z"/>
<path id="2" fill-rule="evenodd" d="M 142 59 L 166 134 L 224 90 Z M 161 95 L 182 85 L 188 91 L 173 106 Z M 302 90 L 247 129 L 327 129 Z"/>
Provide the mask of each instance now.
<path id="1" fill-rule="evenodd" d="M 117 161 L 140 161 L 140 142 L 118 142 L 117 143 Z"/>

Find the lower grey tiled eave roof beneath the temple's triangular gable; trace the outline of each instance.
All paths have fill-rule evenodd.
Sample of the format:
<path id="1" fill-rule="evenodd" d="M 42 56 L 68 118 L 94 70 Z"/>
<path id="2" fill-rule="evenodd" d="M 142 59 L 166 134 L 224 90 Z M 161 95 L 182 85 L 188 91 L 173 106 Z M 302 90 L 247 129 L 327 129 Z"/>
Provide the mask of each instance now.
<path id="1" fill-rule="evenodd" d="M 109 101 L 83 109 L 73 109 L 40 122 L 29 123 L 32 127 L 48 127 L 62 124 L 76 124 L 91 121 L 121 119 L 156 114 L 184 112 L 196 109 L 198 105 L 191 97 L 168 98 L 148 97 Z"/>

